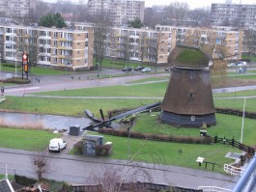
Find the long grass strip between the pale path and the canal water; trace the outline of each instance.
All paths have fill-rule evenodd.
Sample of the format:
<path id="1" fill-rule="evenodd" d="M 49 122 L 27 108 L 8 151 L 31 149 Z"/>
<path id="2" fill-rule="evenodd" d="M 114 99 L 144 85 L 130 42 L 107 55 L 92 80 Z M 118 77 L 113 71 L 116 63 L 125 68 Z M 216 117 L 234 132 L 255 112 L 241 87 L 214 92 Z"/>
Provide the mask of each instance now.
<path id="1" fill-rule="evenodd" d="M 6 96 L 0 103 L 2 110 L 17 110 L 40 114 L 55 114 L 65 116 L 80 116 L 88 109 L 100 117 L 99 109 L 104 113 L 110 109 L 134 108 L 145 104 L 154 103 L 156 99 L 71 99 L 71 98 L 37 98 Z M 79 114 L 78 114 L 79 113 Z"/>

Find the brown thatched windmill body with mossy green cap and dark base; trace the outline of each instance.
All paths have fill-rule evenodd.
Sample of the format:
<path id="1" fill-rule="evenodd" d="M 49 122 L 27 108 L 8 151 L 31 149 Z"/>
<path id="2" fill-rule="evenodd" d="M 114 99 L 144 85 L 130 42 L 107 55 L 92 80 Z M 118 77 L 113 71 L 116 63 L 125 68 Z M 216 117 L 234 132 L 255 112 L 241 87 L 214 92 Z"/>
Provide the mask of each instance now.
<path id="1" fill-rule="evenodd" d="M 170 81 L 160 121 L 178 126 L 213 125 L 215 108 L 210 78 L 211 57 L 200 48 L 176 46 L 170 53 Z"/>

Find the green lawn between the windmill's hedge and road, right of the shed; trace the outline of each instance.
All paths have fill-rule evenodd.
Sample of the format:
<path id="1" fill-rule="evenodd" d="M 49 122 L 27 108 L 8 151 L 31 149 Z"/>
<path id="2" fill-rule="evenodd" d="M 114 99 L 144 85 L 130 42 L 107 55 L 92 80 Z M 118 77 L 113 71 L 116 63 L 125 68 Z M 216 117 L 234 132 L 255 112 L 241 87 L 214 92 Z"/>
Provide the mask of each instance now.
<path id="1" fill-rule="evenodd" d="M 89 134 L 95 134 L 89 132 Z M 104 142 L 113 143 L 112 159 L 128 159 L 128 138 L 104 135 Z M 214 162 L 219 166 L 214 167 L 214 172 L 223 173 L 223 165 L 233 162 L 232 159 L 225 158 L 229 151 L 240 152 L 231 146 L 216 145 L 197 145 L 197 144 L 178 144 L 168 142 L 155 142 L 147 140 L 129 140 L 130 157 L 135 161 L 151 162 L 156 164 L 174 165 L 193 169 L 205 170 L 205 166 L 199 167 L 196 163 L 198 156 L 205 157 L 206 161 Z M 178 151 L 182 150 L 180 154 Z M 139 151 L 137 156 L 134 156 Z M 212 171 L 212 166 L 208 167 Z"/>

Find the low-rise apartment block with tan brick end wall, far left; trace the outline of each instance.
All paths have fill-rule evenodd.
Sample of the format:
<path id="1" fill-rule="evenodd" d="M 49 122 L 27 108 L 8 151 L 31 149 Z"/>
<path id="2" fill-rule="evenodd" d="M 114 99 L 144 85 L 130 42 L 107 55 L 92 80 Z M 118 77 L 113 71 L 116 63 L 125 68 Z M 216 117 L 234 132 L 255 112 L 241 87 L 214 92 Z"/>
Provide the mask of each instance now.
<path id="1" fill-rule="evenodd" d="M 93 65 L 92 31 L 0 26 L 1 58 L 21 61 L 27 52 L 38 65 L 90 69 Z M 32 48 L 32 50 L 31 50 Z"/>

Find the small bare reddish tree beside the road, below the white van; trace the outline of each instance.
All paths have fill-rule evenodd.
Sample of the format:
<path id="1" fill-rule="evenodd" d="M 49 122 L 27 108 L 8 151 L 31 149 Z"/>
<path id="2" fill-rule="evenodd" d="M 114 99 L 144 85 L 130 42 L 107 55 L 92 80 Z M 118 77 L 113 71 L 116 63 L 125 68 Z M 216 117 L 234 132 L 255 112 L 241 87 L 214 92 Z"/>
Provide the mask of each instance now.
<path id="1" fill-rule="evenodd" d="M 35 166 L 35 172 L 38 176 L 38 180 L 41 181 L 43 175 L 48 172 L 50 157 L 47 156 L 47 151 L 37 151 L 32 156 L 32 162 Z"/>

